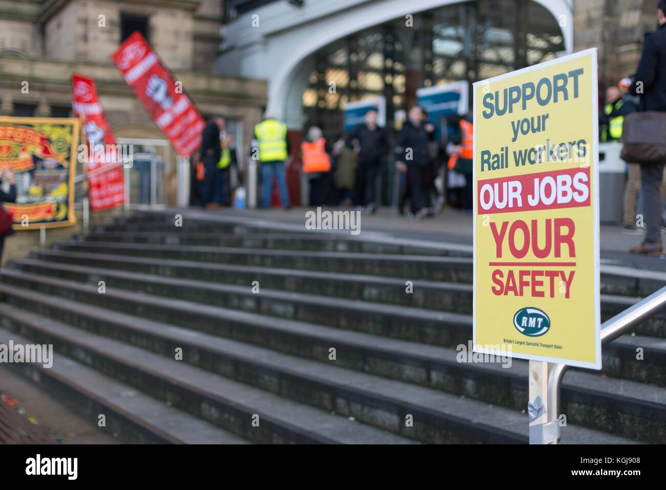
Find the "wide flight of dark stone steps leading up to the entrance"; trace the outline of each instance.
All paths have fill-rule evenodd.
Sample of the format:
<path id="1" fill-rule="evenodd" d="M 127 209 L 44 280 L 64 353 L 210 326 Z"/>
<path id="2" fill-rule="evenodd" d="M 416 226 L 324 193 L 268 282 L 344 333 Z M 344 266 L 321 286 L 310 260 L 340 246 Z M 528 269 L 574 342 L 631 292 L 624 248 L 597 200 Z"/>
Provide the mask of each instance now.
<path id="1" fill-rule="evenodd" d="M 174 217 L 137 213 L 0 271 L 0 341 L 52 343 L 60 371 L 15 369 L 129 442 L 527 441 L 527 361 L 456 351 L 472 337 L 469 245 Z M 603 317 L 665 282 L 602 265 Z M 567 373 L 563 442 L 663 442 L 665 332 L 661 313 L 605 346 L 602 371 Z"/>

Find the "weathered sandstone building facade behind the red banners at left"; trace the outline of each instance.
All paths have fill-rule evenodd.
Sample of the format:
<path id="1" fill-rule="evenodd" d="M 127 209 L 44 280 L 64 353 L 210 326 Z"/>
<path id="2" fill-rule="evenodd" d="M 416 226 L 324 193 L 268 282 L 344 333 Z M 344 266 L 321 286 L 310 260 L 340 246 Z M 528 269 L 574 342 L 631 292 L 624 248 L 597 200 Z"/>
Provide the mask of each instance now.
<path id="1" fill-rule="evenodd" d="M 71 117 L 72 73 L 93 77 L 117 138 L 163 145 L 155 147 L 163 157 L 161 202 L 174 205 L 176 153 L 110 56 L 127 35 L 141 31 L 202 115 L 228 118 L 242 158 L 266 105 L 266 81 L 214 71 L 223 6 L 220 0 L 1 1 L 0 115 Z M 43 245 L 80 233 L 78 199 L 77 206 L 77 225 L 49 230 Z M 122 212 L 91 213 L 91 225 Z M 20 231 L 5 243 L 3 261 L 39 244 L 39 231 Z"/>

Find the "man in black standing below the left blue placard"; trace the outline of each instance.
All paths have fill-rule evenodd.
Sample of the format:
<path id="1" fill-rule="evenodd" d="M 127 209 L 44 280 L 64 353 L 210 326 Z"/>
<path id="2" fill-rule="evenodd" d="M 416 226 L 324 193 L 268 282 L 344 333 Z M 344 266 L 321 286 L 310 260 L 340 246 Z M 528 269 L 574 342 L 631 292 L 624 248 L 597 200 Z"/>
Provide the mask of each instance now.
<path id="1" fill-rule="evenodd" d="M 354 129 L 347 143 L 357 155 L 354 205 L 364 206 L 372 214 L 377 209 L 377 174 L 388 153 L 388 137 L 386 131 L 377 125 L 376 110 L 366 112 L 365 123 Z"/>

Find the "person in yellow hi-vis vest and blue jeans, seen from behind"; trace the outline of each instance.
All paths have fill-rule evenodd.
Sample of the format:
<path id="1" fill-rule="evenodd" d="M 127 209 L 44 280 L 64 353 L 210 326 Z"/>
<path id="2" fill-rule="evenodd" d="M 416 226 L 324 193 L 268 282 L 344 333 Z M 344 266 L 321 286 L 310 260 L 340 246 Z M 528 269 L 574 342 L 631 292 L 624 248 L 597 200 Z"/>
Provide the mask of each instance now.
<path id="1" fill-rule="evenodd" d="M 266 113 L 263 121 L 254 127 L 252 158 L 257 158 L 261 169 L 261 205 L 270 207 L 273 178 L 278 184 L 282 207 L 289 209 L 289 193 L 284 173 L 284 161 L 289 156 L 286 124 Z M 256 155 L 256 156 L 255 156 Z"/>

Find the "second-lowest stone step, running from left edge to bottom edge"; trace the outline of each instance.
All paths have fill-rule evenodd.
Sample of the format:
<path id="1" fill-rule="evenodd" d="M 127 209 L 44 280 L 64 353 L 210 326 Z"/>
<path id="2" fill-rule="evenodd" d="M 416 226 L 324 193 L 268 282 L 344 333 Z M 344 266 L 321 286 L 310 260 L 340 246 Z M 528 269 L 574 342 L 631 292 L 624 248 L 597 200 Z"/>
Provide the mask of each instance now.
<path id="1" fill-rule="evenodd" d="M 294 403 L 145 349 L 0 305 L 5 329 L 151 397 L 258 443 L 409 443 L 345 417 Z M 258 415 L 259 425 L 252 425 Z"/>

